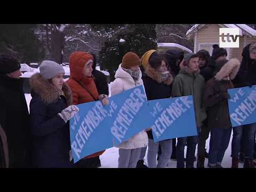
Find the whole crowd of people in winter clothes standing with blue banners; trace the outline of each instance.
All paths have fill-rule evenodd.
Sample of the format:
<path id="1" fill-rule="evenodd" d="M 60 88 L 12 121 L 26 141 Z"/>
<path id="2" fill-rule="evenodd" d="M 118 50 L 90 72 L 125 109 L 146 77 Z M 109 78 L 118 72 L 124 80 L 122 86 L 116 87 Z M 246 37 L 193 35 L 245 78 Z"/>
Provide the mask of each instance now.
<path id="1" fill-rule="evenodd" d="M 207 167 L 221 168 L 232 130 L 230 167 L 238 168 L 239 161 L 245 168 L 255 167 L 256 123 L 232 127 L 228 89 L 256 85 L 256 43 L 244 47 L 242 62 L 227 60 L 227 56 L 218 45 L 213 45 L 212 55 L 206 50 L 187 54 L 149 50 L 141 58 L 134 52 L 123 56 L 111 83 L 111 95 L 139 85 L 145 88 L 148 100 L 193 95 L 197 135 L 154 142 L 148 127 L 115 146 L 119 148 L 119 168 L 164 168 L 171 159 L 177 160 L 177 168 L 194 168 L 195 161 L 197 168 L 204 168 L 205 158 Z M 29 113 L 19 62 L 0 55 L 0 167 L 101 166 L 99 156 L 104 150 L 74 164 L 69 138 L 69 120 L 79 111 L 76 105 L 97 100 L 109 104 L 107 78 L 95 70 L 96 63 L 94 54 L 72 53 L 70 77 L 65 82 L 65 71 L 59 63 L 43 61 L 40 73 L 29 79 Z"/>

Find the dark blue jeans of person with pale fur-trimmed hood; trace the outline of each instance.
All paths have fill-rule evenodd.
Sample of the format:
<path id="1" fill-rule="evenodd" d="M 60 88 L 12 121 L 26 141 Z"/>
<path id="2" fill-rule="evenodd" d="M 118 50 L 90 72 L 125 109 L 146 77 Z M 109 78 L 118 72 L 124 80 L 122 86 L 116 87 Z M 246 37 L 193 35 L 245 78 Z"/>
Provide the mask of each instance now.
<path id="1" fill-rule="evenodd" d="M 222 129 L 213 128 L 211 129 L 210 138 L 210 149 L 209 149 L 209 165 L 221 165 L 225 151 L 228 148 L 232 128 Z"/>

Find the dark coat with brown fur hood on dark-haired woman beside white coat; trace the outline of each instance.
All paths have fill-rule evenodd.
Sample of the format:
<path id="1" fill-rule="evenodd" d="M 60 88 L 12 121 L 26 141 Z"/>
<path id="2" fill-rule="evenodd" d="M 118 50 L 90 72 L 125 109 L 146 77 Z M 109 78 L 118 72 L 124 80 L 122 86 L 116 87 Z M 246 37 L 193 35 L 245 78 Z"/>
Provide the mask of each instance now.
<path id="1" fill-rule="evenodd" d="M 148 100 L 165 99 L 171 97 L 173 77 L 170 76 L 162 82 L 162 75 L 159 71 L 147 66 L 146 76 L 142 78 Z M 154 139 L 152 131 L 147 131 L 148 138 Z"/>

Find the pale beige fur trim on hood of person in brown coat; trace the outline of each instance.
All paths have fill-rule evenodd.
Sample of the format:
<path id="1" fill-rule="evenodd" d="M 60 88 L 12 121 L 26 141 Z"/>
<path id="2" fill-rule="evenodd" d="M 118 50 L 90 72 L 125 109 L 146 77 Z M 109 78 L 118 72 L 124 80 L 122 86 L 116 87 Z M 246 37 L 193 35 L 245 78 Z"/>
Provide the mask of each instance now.
<path id="1" fill-rule="evenodd" d="M 217 81 L 221 81 L 223 77 L 226 77 L 230 74 L 230 79 L 233 80 L 236 77 L 236 74 L 238 73 L 238 70 L 240 68 L 241 63 L 238 59 L 233 58 L 230 59 L 221 69 L 220 71 L 215 75 L 215 79 Z"/>

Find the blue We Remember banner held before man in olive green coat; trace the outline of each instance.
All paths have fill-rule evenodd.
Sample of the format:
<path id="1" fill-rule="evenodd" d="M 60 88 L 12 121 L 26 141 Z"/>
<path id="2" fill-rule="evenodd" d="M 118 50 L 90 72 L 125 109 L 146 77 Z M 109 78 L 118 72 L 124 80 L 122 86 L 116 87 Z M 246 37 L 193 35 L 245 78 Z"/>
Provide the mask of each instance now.
<path id="1" fill-rule="evenodd" d="M 154 141 L 197 135 L 193 97 L 148 101 Z"/>

